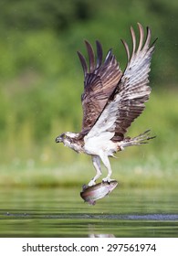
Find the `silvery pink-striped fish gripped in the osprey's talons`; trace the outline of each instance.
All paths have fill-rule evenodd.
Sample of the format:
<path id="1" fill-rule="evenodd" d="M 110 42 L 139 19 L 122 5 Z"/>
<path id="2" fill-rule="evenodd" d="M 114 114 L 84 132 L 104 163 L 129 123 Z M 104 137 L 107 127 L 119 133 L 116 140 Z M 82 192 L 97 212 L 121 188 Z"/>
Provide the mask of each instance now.
<path id="1" fill-rule="evenodd" d="M 80 197 L 85 202 L 88 202 L 89 205 L 95 205 L 96 200 L 106 197 L 117 186 L 118 182 L 116 180 L 112 180 L 110 183 L 101 182 L 91 187 L 84 185 L 83 190 L 80 192 Z"/>

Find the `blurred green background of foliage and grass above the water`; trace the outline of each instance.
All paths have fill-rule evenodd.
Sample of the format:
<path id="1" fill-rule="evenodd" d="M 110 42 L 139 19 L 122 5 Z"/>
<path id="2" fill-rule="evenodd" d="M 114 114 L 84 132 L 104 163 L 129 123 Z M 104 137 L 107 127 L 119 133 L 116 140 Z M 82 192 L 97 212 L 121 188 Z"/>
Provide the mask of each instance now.
<path id="1" fill-rule="evenodd" d="M 177 186 L 177 0 L 0 1 L 0 186 L 74 186 L 94 175 L 90 157 L 55 138 L 79 132 L 83 72 L 77 50 L 88 39 L 113 48 L 121 69 L 137 22 L 158 37 L 152 58 L 151 99 L 128 135 L 152 129 L 150 144 L 111 160 L 125 186 Z"/>

